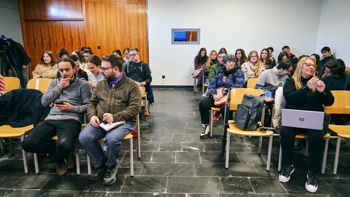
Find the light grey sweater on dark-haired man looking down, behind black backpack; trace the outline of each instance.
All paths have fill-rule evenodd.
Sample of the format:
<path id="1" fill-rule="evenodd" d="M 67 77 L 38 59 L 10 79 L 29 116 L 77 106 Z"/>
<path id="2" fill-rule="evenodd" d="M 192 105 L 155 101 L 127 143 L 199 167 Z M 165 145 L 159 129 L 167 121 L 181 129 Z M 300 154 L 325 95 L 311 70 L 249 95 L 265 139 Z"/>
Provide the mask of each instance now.
<path id="1" fill-rule="evenodd" d="M 274 92 L 279 86 L 283 86 L 287 79 L 287 75 L 276 75 L 274 68 L 267 69 L 264 70 L 259 76 L 255 89 L 261 90 L 263 93 L 271 92 L 272 97 L 274 97 Z"/>

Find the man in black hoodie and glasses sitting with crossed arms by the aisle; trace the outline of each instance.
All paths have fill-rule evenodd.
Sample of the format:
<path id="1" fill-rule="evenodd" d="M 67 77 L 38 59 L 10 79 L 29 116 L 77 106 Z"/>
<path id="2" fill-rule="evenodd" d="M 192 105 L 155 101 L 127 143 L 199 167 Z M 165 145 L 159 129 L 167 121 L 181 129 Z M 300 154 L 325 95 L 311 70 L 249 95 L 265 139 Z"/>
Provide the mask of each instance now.
<path id="1" fill-rule="evenodd" d="M 141 95 L 145 94 L 146 87 L 152 82 L 151 70 L 147 63 L 140 60 L 140 52 L 137 48 L 131 48 L 129 51 L 131 60 L 130 62 L 124 64 L 123 71 L 127 77 L 134 80 L 141 91 Z M 149 113 L 141 102 L 142 115 L 148 117 Z"/>

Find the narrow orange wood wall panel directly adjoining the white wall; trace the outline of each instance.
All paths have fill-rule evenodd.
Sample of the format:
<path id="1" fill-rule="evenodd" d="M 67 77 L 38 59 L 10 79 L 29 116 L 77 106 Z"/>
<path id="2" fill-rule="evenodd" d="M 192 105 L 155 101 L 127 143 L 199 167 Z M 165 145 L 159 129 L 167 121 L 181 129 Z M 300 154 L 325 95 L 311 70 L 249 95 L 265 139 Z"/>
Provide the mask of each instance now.
<path id="1" fill-rule="evenodd" d="M 138 48 L 140 60 L 148 63 L 147 3 L 127 2 L 126 7 L 129 48 Z"/>

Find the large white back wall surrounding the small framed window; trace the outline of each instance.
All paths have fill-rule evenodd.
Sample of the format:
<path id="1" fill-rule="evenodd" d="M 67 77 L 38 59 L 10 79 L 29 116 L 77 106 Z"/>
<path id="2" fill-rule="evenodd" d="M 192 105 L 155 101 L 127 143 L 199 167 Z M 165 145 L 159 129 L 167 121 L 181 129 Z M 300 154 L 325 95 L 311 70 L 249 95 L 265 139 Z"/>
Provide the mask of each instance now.
<path id="1" fill-rule="evenodd" d="M 193 85 L 190 76 L 200 48 L 225 47 L 274 55 L 288 45 L 299 57 L 312 54 L 317 42 L 321 0 L 148 0 L 149 65 L 152 85 Z M 266 3 L 267 2 L 267 3 Z M 171 45 L 172 28 L 201 28 L 200 45 Z"/>

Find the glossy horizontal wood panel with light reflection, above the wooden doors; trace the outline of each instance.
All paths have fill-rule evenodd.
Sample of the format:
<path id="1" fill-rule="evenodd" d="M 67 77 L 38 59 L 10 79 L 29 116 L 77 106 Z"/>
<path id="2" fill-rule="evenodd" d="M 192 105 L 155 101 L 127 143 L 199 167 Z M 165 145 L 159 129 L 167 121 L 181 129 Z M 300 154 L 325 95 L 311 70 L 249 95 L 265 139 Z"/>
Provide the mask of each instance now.
<path id="1" fill-rule="evenodd" d="M 82 0 L 22 0 L 24 20 L 84 18 Z"/>

